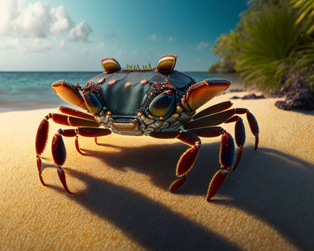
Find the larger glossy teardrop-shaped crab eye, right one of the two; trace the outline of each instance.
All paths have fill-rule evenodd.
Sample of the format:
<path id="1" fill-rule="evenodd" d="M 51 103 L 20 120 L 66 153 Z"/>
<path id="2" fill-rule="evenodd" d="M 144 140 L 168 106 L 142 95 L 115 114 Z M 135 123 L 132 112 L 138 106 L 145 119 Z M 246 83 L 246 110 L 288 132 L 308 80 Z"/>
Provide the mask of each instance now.
<path id="1" fill-rule="evenodd" d="M 164 117 L 168 115 L 174 107 L 175 96 L 171 90 L 160 93 L 149 104 L 149 110 L 156 117 Z"/>

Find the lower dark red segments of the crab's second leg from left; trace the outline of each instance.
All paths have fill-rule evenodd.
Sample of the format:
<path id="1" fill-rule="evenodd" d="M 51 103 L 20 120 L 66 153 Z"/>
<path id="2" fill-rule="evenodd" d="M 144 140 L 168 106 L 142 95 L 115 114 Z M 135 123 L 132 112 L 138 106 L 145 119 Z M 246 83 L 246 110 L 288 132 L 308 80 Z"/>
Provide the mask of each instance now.
<path id="1" fill-rule="evenodd" d="M 68 189 L 67 183 L 65 181 L 64 170 L 61 167 L 64 164 L 65 159 L 66 159 L 66 151 L 65 151 L 63 139 L 62 139 L 62 136 L 61 136 L 62 133 L 63 133 L 63 131 L 60 129 L 55 134 L 55 136 L 53 137 L 52 144 L 51 144 L 51 152 L 52 152 L 53 161 L 55 162 L 55 164 L 58 167 L 58 175 L 59 175 L 60 181 L 61 181 L 64 189 L 69 194 L 72 194 L 70 192 L 70 190 Z"/>

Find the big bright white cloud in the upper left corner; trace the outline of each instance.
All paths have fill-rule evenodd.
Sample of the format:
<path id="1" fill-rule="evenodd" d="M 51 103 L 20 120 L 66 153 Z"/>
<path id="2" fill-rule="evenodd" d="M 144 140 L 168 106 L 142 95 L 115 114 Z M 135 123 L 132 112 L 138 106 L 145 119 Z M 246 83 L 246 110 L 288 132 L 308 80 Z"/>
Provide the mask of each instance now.
<path id="1" fill-rule="evenodd" d="M 2 1 L 0 34 L 23 37 L 46 37 L 61 34 L 74 26 L 63 6 L 48 3 L 24 4 L 21 0 Z"/>

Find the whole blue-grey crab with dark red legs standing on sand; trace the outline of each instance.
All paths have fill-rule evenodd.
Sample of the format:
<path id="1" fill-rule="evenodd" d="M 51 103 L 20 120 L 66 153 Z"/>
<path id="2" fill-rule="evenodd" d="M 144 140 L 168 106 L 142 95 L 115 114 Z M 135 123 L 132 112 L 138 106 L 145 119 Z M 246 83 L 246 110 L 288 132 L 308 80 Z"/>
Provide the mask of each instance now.
<path id="1" fill-rule="evenodd" d="M 90 79 L 84 86 L 72 85 L 64 80 L 52 84 L 63 100 L 85 110 L 82 112 L 65 106 L 63 114 L 49 113 L 41 121 L 35 139 L 38 174 L 42 178 L 41 154 L 44 152 L 49 129 L 49 119 L 75 129 L 59 129 L 52 139 L 52 157 L 64 189 L 71 194 L 62 168 L 66 150 L 62 136 L 75 137 L 75 146 L 80 154 L 78 136 L 97 137 L 111 133 L 119 135 L 149 136 L 160 139 L 178 139 L 190 146 L 176 166 L 177 179 L 169 191 L 178 190 L 192 169 L 201 146 L 199 137 L 221 136 L 220 169 L 212 178 L 207 200 L 210 200 L 225 182 L 230 170 L 235 170 L 245 143 L 245 129 L 241 117 L 246 114 L 250 129 L 258 145 L 258 124 L 246 108 L 229 109 L 230 101 L 196 110 L 219 93 L 231 82 L 227 79 L 206 79 L 196 82 L 187 74 L 174 70 L 177 56 L 164 55 L 157 67 L 130 67 L 121 69 L 114 58 L 101 60 L 105 72 Z M 235 141 L 221 126 L 235 122 Z M 236 146 L 235 146 L 236 143 Z"/>

